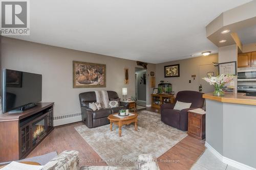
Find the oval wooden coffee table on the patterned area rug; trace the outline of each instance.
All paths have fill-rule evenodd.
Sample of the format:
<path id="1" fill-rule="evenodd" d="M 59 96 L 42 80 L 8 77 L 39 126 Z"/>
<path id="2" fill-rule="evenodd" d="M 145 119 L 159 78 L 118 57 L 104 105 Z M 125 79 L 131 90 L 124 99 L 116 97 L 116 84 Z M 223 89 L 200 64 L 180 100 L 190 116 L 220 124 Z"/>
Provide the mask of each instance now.
<path id="1" fill-rule="evenodd" d="M 130 112 L 130 113 L 133 113 L 134 115 L 119 118 L 114 116 L 115 114 L 118 114 L 118 113 L 114 113 L 108 116 L 108 119 L 110 120 L 110 130 L 112 131 L 112 124 L 116 124 L 119 127 L 119 137 L 122 136 L 123 125 L 130 125 L 131 123 L 134 123 L 135 131 L 137 131 L 138 114 L 135 112 Z"/>

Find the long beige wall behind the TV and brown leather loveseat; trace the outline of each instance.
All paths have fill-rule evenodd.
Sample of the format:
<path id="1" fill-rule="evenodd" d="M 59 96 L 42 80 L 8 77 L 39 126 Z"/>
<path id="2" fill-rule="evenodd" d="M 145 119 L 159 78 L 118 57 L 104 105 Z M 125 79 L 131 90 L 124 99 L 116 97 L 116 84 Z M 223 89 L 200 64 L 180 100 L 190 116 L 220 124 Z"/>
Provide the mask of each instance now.
<path id="1" fill-rule="evenodd" d="M 73 88 L 72 61 L 106 64 L 106 88 Z M 93 90 L 113 90 L 122 99 L 122 87 L 127 87 L 128 97 L 135 95 L 136 61 L 69 50 L 50 45 L 3 37 L 2 68 L 42 74 L 42 102 L 55 102 L 54 116 L 80 113 L 78 94 Z M 130 82 L 124 85 L 124 67 L 129 68 Z M 148 64 L 147 72 L 155 71 Z M 152 88 L 147 83 L 147 104 Z M 76 120 L 79 120 L 80 116 Z M 70 123 L 63 120 L 55 125 Z"/>

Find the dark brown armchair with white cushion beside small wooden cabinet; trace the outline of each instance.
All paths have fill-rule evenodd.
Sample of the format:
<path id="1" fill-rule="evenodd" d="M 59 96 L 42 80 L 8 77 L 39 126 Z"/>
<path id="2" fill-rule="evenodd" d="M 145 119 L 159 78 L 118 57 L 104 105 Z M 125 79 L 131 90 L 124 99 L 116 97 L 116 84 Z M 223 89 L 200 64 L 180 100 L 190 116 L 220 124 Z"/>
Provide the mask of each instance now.
<path id="1" fill-rule="evenodd" d="M 198 91 L 179 91 L 174 104 L 161 105 L 161 121 L 166 125 L 187 131 L 188 110 L 202 108 L 204 106 L 203 93 Z M 174 110 L 176 102 L 192 103 L 189 109 Z"/>

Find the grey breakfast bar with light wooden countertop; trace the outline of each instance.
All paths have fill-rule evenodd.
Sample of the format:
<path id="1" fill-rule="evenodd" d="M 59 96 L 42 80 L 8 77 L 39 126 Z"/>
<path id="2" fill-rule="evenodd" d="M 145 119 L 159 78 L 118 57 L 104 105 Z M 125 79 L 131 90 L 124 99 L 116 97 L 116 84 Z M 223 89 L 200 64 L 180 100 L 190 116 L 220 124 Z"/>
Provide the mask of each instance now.
<path id="1" fill-rule="evenodd" d="M 224 163 L 256 168 L 256 97 L 245 93 L 206 99 L 206 147 Z"/>

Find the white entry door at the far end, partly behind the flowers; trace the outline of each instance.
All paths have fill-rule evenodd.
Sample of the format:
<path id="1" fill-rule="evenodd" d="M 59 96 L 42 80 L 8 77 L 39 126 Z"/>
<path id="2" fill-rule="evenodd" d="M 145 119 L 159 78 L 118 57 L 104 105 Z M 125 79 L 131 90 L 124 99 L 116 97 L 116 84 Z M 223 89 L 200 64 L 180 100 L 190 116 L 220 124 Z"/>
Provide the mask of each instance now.
<path id="1" fill-rule="evenodd" d="M 209 85 L 202 78 L 207 77 L 208 74 L 214 74 L 214 77 L 218 74 L 218 65 L 207 64 L 207 65 L 199 65 L 199 91 L 203 93 L 209 93 L 214 91 L 214 86 Z"/>

